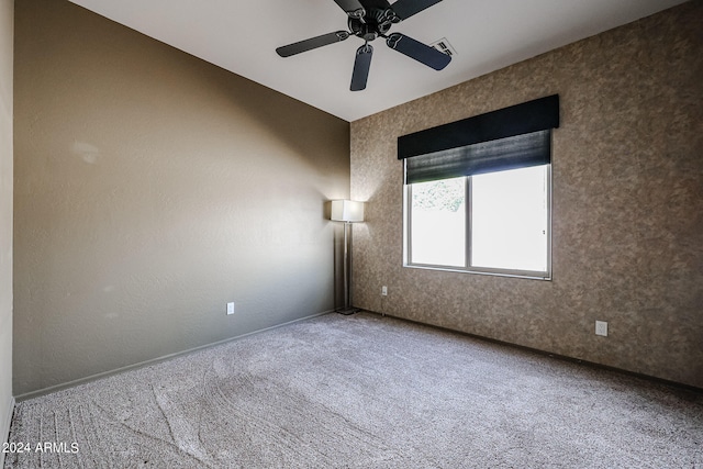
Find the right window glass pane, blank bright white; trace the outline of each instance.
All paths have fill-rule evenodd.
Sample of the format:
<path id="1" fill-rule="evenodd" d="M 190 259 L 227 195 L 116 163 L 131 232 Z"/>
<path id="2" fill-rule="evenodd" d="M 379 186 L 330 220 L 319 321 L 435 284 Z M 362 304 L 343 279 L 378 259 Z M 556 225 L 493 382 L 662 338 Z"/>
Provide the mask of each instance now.
<path id="1" fill-rule="evenodd" d="M 471 265 L 546 271 L 548 166 L 471 177 Z"/>

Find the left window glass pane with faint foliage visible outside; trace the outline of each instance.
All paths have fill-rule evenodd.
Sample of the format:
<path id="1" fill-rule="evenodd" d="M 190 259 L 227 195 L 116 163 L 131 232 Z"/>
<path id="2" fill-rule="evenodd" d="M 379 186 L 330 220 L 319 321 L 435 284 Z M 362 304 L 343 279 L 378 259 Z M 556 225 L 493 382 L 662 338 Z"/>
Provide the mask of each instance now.
<path id="1" fill-rule="evenodd" d="M 412 264 L 465 267 L 466 178 L 412 185 Z"/>

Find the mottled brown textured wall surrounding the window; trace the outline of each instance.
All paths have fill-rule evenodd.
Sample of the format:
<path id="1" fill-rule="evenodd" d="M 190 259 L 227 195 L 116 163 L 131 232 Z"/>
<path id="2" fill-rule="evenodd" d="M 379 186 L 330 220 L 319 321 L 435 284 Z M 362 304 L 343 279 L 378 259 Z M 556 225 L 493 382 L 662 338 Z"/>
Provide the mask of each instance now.
<path id="1" fill-rule="evenodd" d="M 355 305 L 703 387 L 701 24 L 688 2 L 353 122 Z M 553 93 L 554 281 L 401 267 L 397 137 Z"/>

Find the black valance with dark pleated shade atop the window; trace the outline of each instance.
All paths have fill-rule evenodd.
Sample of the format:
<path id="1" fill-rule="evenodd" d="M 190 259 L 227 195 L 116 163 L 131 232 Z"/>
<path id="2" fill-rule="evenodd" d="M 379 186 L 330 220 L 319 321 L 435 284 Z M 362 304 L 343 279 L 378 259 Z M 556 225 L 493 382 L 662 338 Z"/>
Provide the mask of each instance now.
<path id="1" fill-rule="evenodd" d="M 501 171 L 551 161 L 559 126 L 554 94 L 398 138 L 405 183 Z"/>

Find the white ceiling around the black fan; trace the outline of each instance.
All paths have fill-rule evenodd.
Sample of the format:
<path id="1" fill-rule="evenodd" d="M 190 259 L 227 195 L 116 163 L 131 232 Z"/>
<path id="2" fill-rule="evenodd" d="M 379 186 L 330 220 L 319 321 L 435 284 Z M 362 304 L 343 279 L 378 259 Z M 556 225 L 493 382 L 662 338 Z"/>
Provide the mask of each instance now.
<path id="1" fill-rule="evenodd" d="M 684 0 L 444 0 L 393 25 L 426 44 L 457 51 L 435 71 L 372 43 L 364 91 L 349 91 L 348 40 L 288 58 L 278 46 L 346 30 L 334 0 L 70 0 L 237 75 L 346 121 L 373 114 L 665 10 Z M 391 1 L 392 3 L 392 1 Z"/>

